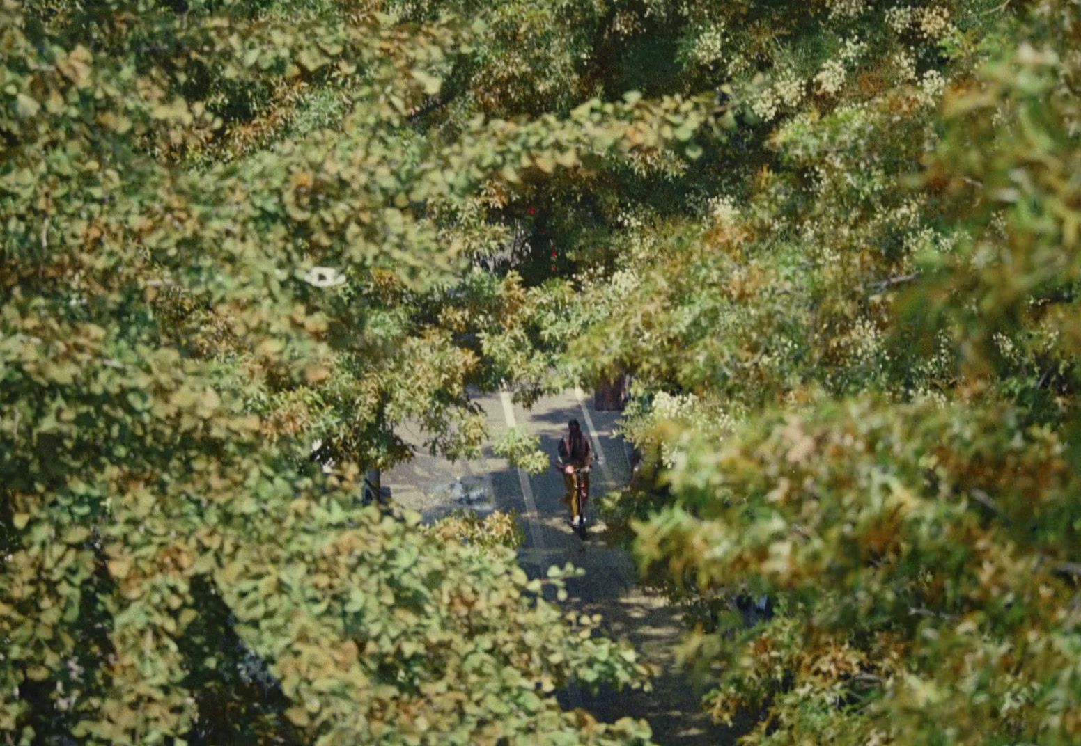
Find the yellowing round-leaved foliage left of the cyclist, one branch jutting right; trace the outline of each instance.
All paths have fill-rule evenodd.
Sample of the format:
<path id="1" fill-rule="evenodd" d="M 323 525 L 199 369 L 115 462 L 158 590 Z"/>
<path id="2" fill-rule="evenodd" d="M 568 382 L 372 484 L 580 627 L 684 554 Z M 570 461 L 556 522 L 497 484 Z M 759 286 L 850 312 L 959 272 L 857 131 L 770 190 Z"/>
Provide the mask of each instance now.
<path id="1" fill-rule="evenodd" d="M 425 126 L 483 25 L 375 10 L 0 5 L 3 743 L 648 736 L 548 695 L 644 673 L 545 600 L 563 571 L 360 479 L 405 418 L 449 456 L 484 437 L 456 303 L 517 287 L 469 270 L 485 190 L 698 107 Z"/>

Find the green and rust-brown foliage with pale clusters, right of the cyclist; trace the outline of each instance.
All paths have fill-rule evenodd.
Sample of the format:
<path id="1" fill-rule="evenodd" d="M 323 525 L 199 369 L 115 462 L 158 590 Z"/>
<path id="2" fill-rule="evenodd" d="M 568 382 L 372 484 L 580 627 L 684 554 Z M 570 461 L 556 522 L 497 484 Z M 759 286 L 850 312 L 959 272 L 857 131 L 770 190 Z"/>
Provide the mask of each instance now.
<path id="1" fill-rule="evenodd" d="M 686 42 L 735 126 L 565 314 L 638 379 L 613 508 L 747 743 L 1076 743 L 1081 13 L 780 5 Z"/>

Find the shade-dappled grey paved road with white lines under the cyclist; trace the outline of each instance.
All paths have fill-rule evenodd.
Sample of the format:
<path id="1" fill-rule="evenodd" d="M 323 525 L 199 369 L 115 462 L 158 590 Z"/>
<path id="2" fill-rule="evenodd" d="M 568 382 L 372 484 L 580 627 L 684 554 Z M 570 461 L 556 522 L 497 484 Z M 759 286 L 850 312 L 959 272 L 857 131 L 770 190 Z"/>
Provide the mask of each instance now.
<path id="1" fill-rule="evenodd" d="M 482 395 L 476 402 L 493 435 L 512 424 L 523 425 L 540 437 L 547 453 L 556 452 L 566 422 L 578 420 L 600 456 L 600 463 L 593 466 L 591 507 L 608 488 L 626 483 L 629 463 L 623 442 L 613 434 L 618 412 L 597 411 L 591 398 L 580 391 L 542 398 L 528 410 L 512 404 L 506 394 Z M 406 429 L 404 435 L 412 443 L 422 442 L 417 432 Z M 653 692 L 601 691 L 595 695 L 571 688 L 559 694 L 564 707 L 585 707 L 604 722 L 625 716 L 645 718 L 659 744 L 732 743 L 725 729 L 702 714 L 699 692 L 676 665 L 682 630 L 677 611 L 663 597 L 637 585 L 629 554 L 606 546 L 603 520 L 595 521 L 586 542 L 571 531 L 561 500 L 563 483 L 556 470 L 529 476 L 490 450 L 481 459 L 456 463 L 418 451 L 412 462 L 385 473 L 383 484 L 390 487 L 395 501 L 429 518 L 463 506 L 479 513 L 518 511 L 525 531 L 519 562 L 531 577 L 544 577 L 549 566 L 569 560 L 585 569 L 585 577 L 568 582 L 566 603 L 583 613 L 601 614 L 609 634 L 629 640 L 659 673 L 653 679 Z M 591 513 L 598 517 L 596 511 Z"/>

